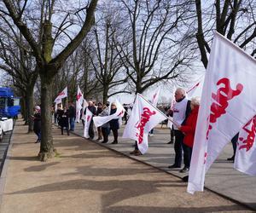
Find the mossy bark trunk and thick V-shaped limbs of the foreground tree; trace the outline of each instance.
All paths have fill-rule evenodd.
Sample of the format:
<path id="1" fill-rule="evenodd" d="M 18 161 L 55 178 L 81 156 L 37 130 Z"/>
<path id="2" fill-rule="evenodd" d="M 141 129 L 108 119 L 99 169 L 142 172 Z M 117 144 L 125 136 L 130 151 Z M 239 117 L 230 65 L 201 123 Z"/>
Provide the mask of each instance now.
<path id="1" fill-rule="evenodd" d="M 33 50 L 33 55 L 37 60 L 37 66 L 39 75 L 41 78 L 41 118 L 42 118 L 42 128 L 41 128 L 41 146 L 38 157 L 41 161 L 46 161 L 47 158 L 51 158 L 54 155 L 53 137 L 51 131 L 51 105 L 52 105 L 52 84 L 53 79 L 57 72 L 61 69 L 64 61 L 67 57 L 73 53 L 75 49 L 78 48 L 79 44 L 84 40 L 84 37 L 90 31 L 91 26 L 95 22 L 94 12 L 96 9 L 98 0 L 91 0 L 89 7 L 86 9 L 86 17 L 84 20 L 84 25 L 80 29 L 79 33 L 73 38 L 67 46 L 62 49 L 61 53 L 52 59 L 52 51 L 54 48 L 54 38 L 52 37 L 52 23 L 49 19 L 44 20 L 43 26 L 40 27 L 40 31 L 43 27 L 42 40 L 37 42 L 37 39 L 33 37 L 31 30 L 29 29 L 26 22 L 21 20 L 21 15 L 15 8 L 15 4 L 3 0 L 3 3 L 9 11 L 9 16 L 14 21 L 15 26 L 18 27 L 22 36 L 25 37 L 30 48 Z M 50 14 L 51 12 L 49 12 Z M 31 26 L 32 27 L 32 26 Z M 34 30 L 34 29 L 32 29 Z"/>

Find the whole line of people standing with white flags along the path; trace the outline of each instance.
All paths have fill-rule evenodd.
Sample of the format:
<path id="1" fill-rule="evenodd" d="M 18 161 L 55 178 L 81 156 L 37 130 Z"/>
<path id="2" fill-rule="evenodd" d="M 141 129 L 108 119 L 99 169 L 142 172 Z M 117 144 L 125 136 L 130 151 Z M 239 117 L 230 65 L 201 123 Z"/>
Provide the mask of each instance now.
<path id="1" fill-rule="evenodd" d="M 171 141 L 168 144 L 174 143 L 174 151 L 175 151 L 175 159 L 174 163 L 168 166 L 169 169 L 182 168 L 182 159 L 183 159 L 183 168 L 180 170 L 181 173 L 186 173 L 189 171 L 191 154 L 194 145 L 194 137 L 195 137 L 195 127 L 200 107 L 200 99 L 198 97 L 192 98 L 188 100 L 186 97 L 186 92 L 182 88 L 178 88 L 175 91 L 175 102 L 170 107 L 165 107 L 166 115 L 171 116 L 173 118 L 173 124 L 171 127 Z M 86 114 L 86 110 L 90 110 L 93 116 L 108 116 L 112 115 L 117 111 L 116 103 L 112 102 L 111 105 L 109 102 L 106 104 L 102 104 L 98 102 L 97 104 L 93 101 L 88 101 L 88 107 L 83 111 L 81 109 L 81 117 L 82 123 L 84 124 L 84 116 Z M 129 106 L 124 105 L 125 115 L 123 117 L 125 124 L 127 124 L 128 120 L 128 110 Z M 41 113 L 40 107 L 36 106 L 34 108 L 35 112 L 32 116 L 34 121 L 34 132 L 38 135 L 37 143 L 41 141 Z M 74 107 L 73 102 L 70 102 L 67 106 L 61 105 L 57 107 L 57 110 L 53 110 L 55 124 L 58 124 L 61 127 L 61 135 L 64 134 L 64 130 L 67 130 L 67 135 L 69 135 L 69 131 L 73 131 L 75 127 L 75 118 L 76 118 L 76 109 Z M 89 126 L 89 136 L 90 140 L 93 140 L 95 137 L 94 133 L 94 124 L 93 119 L 91 119 Z M 108 135 L 112 131 L 113 133 L 113 142 L 112 144 L 118 143 L 118 130 L 119 130 L 119 118 L 114 118 L 107 122 L 106 124 L 102 124 L 102 126 L 97 127 L 97 141 L 102 141 L 102 143 L 108 143 Z M 149 135 L 153 135 L 153 130 L 149 133 Z M 227 160 L 234 161 L 236 154 L 236 142 L 238 139 L 238 134 L 232 139 L 234 154 L 232 157 Z M 135 149 L 131 154 L 141 155 L 137 141 L 135 142 Z M 184 181 L 188 181 L 188 176 L 184 176 Z"/>

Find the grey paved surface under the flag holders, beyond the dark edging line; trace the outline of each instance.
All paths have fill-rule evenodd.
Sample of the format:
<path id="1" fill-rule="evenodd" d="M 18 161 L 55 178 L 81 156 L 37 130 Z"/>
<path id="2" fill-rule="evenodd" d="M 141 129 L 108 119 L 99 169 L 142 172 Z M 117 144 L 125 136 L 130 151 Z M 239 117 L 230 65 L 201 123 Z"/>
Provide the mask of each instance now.
<path id="1" fill-rule="evenodd" d="M 148 137 L 148 153 L 143 156 L 133 156 L 129 153 L 133 150 L 134 141 L 121 138 L 124 126 L 119 130 L 119 144 L 104 144 L 104 146 L 124 153 L 131 158 L 136 158 L 146 164 L 153 165 L 160 170 L 165 170 L 174 176 L 183 177 L 179 170 L 168 169 L 168 165 L 174 163 L 173 145 L 166 144 L 170 141 L 170 130 L 168 128 L 154 129 L 154 136 Z M 83 135 L 82 124 L 77 124 L 76 134 Z M 110 142 L 113 137 L 110 136 Z M 205 186 L 216 193 L 220 193 L 230 199 L 246 204 L 256 210 L 256 177 L 247 176 L 233 168 L 233 163 L 227 161 L 233 154 L 232 144 L 228 144 L 223 153 L 220 154 L 206 176 Z"/>

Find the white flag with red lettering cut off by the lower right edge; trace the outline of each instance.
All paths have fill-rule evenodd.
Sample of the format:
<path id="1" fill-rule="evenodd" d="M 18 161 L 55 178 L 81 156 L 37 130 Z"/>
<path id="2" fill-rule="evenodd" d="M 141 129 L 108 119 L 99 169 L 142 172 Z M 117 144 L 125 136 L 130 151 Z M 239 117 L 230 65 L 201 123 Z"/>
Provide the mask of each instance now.
<path id="1" fill-rule="evenodd" d="M 234 168 L 250 176 L 256 176 L 256 116 L 239 132 Z"/>

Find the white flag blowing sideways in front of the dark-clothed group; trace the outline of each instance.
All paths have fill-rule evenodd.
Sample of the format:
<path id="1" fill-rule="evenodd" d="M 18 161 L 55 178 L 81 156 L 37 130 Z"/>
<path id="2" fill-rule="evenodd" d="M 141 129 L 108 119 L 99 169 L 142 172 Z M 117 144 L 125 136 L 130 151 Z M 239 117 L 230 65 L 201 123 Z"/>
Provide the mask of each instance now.
<path id="1" fill-rule="evenodd" d="M 122 118 L 125 114 L 125 108 L 119 103 L 119 101 L 116 101 L 116 112 L 114 112 L 112 115 L 108 116 L 94 116 L 93 122 L 96 127 L 102 126 L 103 124 L 106 124 L 108 121 L 112 119 Z"/>

